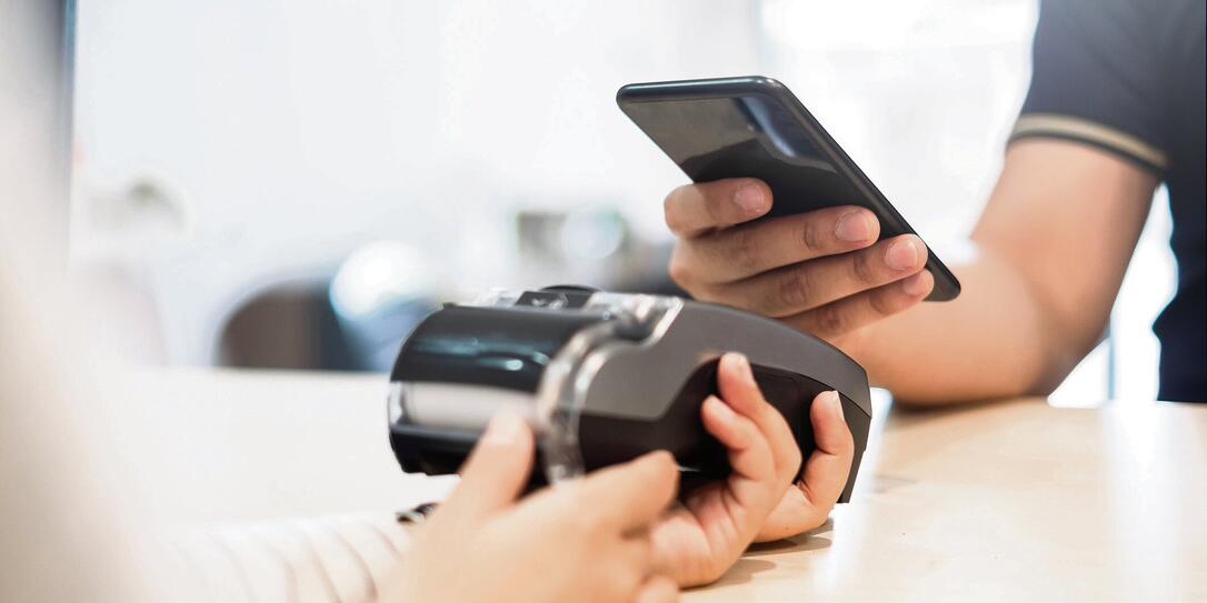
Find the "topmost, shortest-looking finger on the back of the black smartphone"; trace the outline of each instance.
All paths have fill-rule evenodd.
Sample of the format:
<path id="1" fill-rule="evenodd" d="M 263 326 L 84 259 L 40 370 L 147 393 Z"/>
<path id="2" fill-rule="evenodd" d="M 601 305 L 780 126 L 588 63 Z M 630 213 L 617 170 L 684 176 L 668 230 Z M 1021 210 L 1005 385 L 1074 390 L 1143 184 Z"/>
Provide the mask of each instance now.
<path id="1" fill-rule="evenodd" d="M 771 209 L 771 189 L 754 178 L 687 185 L 671 191 L 663 209 L 672 233 L 698 236 L 766 213 Z"/>

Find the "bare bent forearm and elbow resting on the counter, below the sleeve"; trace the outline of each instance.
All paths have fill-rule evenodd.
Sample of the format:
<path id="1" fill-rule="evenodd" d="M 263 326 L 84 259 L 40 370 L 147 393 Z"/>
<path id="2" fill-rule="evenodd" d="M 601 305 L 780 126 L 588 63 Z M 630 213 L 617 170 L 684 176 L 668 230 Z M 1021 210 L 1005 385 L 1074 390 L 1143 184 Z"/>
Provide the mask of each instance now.
<path id="1" fill-rule="evenodd" d="M 1092 147 L 1010 146 L 955 271 L 955 302 L 921 304 L 836 343 L 906 402 L 1046 394 L 1094 347 L 1156 177 Z"/>

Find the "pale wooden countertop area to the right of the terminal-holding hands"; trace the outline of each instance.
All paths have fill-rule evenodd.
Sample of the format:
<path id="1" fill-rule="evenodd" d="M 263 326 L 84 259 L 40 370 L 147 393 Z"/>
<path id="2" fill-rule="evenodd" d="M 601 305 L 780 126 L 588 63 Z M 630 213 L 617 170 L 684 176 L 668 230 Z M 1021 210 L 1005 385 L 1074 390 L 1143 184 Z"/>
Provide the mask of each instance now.
<path id="1" fill-rule="evenodd" d="M 1207 406 L 890 414 L 851 504 L 721 601 L 1207 601 Z"/>

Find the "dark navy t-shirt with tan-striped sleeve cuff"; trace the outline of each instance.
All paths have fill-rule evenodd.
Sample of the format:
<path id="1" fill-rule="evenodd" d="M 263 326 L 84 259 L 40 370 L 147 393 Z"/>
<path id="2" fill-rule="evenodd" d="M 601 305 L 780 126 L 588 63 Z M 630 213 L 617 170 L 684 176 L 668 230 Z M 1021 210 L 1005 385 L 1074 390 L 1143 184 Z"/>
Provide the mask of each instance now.
<path id="1" fill-rule="evenodd" d="M 1010 140 L 1121 156 L 1170 191 L 1178 291 L 1153 324 L 1166 400 L 1207 400 L 1203 0 L 1040 0 L 1031 90 Z"/>

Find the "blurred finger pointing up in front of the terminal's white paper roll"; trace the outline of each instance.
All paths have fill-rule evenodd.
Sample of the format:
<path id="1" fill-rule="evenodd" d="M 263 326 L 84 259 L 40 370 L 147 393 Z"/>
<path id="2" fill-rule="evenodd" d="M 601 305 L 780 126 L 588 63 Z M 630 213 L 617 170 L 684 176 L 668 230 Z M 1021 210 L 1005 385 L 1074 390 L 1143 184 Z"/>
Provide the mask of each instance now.
<path id="1" fill-rule="evenodd" d="M 500 412 L 461 466 L 461 482 L 441 505 L 441 514 L 472 523 L 509 507 L 531 469 L 532 431 L 519 415 Z"/>

